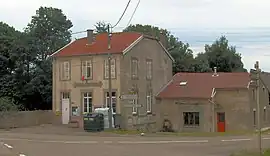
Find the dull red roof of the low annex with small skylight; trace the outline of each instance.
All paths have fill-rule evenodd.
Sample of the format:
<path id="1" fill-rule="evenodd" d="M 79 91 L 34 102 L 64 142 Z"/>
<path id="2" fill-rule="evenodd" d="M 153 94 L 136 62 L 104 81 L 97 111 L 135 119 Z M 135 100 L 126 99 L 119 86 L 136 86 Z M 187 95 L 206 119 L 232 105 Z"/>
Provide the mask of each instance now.
<path id="1" fill-rule="evenodd" d="M 158 98 L 210 98 L 213 88 L 247 88 L 249 73 L 177 73 Z M 187 84 L 180 86 L 180 82 Z"/>

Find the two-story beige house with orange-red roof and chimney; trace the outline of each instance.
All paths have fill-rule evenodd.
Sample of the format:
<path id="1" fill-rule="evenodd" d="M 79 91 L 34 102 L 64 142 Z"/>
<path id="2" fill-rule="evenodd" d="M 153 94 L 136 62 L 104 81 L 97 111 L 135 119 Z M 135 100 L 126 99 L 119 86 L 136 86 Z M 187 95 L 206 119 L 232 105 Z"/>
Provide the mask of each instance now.
<path id="1" fill-rule="evenodd" d="M 141 33 L 112 33 L 108 41 L 107 33 L 88 30 L 87 37 L 52 54 L 53 111 L 68 124 L 72 120 L 81 123 L 84 113 L 108 107 L 110 57 L 112 107 L 114 114 L 121 115 L 121 127 L 155 125 L 153 95 L 172 78 L 172 56 L 157 37 Z M 119 98 L 131 92 L 138 98 Z"/>

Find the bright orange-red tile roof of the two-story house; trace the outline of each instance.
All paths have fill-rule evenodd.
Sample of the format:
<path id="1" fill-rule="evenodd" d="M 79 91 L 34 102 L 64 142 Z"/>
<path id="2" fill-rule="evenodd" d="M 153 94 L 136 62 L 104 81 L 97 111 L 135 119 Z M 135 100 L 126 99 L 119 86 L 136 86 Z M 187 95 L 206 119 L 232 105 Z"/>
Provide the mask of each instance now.
<path id="1" fill-rule="evenodd" d="M 73 56 L 85 54 L 121 53 L 142 34 L 136 32 L 113 33 L 111 37 L 111 49 L 108 50 L 108 35 L 101 33 L 96 35 L 95 41 L 87 45 L 87 38 L 80 38 L 59 50 L 54 56 Z"/>

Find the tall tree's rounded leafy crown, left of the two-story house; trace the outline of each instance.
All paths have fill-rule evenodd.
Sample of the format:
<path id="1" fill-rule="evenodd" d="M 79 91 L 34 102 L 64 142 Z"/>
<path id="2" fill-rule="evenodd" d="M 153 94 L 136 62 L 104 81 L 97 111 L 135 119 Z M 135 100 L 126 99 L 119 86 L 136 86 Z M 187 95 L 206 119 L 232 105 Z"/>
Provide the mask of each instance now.
<path id="1" fill-rule="evenodd" d="M 61 9 L 40 7 L 36 15 L 32 16 L 25 32 L 35 37 L 37 56 L 43 61 L 71 41 L 72 26 Z"/>

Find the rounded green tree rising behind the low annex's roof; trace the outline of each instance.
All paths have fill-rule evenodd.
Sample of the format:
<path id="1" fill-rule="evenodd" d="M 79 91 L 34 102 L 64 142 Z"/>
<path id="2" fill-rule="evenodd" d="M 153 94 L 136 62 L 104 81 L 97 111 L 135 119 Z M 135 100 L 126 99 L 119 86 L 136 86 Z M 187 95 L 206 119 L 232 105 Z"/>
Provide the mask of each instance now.
<path id="1" fill-rule="evenodd" d="M 210 68 L 217 67 L 221 72 L 246 72 L 241 54 L 230 46 L 225 36 L 221 36 L 212 45 L 205 45 L 205 55 Z"/>

